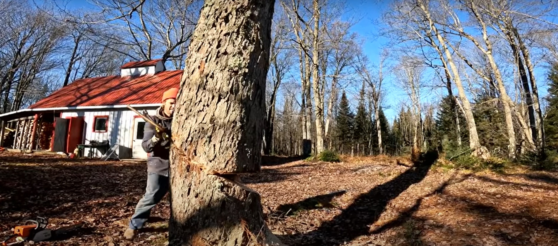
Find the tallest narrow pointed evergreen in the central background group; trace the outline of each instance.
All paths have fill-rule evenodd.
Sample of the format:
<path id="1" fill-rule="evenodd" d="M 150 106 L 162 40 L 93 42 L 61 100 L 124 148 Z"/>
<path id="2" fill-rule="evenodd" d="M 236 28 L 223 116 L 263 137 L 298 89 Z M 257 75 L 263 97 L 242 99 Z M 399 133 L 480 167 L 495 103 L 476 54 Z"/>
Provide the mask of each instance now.
<path id="1" fill-rule="evenodd" d="M 359 154 L 367 153 L 366 146 L 368 145 L 368 139 L 370 137 L 370 130 L 372 127 L 372 122 L 368 117 L 368 112 L 366 106 L 364 105 L 364 84 L 360 90 L 360 98 L 358 101 L 357 115 L 355 116 L 355 131 L 354 131 L 354 143 L 358 146 Z"/>

